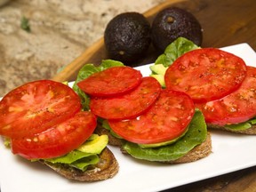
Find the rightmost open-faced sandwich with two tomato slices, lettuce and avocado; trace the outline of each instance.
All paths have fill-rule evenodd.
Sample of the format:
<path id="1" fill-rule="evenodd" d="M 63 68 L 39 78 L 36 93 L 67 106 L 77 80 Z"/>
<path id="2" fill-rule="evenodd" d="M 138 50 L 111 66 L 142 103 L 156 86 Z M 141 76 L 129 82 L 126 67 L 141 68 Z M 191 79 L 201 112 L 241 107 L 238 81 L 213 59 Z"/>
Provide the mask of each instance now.
<path id="1" fill-rule="evenodd" d="M 178 38 L 150 69 L 162 86 L 187 92 L 209 128 L 256 133 L 255 68 L 246 66 L 241 58 L 215 48 L 201 49 Z"/>

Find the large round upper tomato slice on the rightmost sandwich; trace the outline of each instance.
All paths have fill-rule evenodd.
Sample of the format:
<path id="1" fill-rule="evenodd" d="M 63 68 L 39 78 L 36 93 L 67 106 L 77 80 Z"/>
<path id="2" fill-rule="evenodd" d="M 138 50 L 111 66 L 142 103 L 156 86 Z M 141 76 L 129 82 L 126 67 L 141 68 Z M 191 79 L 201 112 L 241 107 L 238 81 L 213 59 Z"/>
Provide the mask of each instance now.
<path id="1" fill-rule="evenodd" d="M 242 84 L 244 60 L 215 48 L 187 52 L 175 60 L 164 76 L 166 88 L 186 92 L 195 102 L 218 100 Z"/>

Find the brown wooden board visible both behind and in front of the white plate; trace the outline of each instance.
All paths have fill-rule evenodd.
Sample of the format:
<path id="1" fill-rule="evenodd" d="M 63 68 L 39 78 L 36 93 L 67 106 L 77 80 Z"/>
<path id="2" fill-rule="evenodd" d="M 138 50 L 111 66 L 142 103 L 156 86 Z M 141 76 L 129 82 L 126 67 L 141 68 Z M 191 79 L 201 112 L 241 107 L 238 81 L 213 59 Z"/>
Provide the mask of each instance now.
<path id="1" fill-rule="evenodd" d="M 202 47 L 223 47 L 232 44 L 247 43 L 256 51 L 256 1 L 255 0 L 169 0 L 144 15 L 152 21 L 156 12 L 167 6 L 178 6 L 192 12 L 204 28 Z M 134 66 L 156 60 L 157 54 L 151 47 L 146 58 Z M 56 81 L 72 81 L 77 71 L 85 63 L 100 64 L 108 59 L 103 38 L 85 50 L 59 74 L 53 76 Z M 256 62 L 256 60 L 255 60 Z M 256 139 L 256 138 L 255 138 Z M 252 151 L 252 153 L 255 153 Z M 166 191 L 175 192 L 256 192 L 256 166 L 219 177 L 197 181 L 179 188 Z"/>

